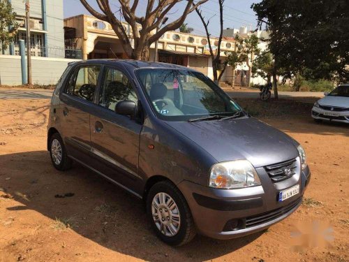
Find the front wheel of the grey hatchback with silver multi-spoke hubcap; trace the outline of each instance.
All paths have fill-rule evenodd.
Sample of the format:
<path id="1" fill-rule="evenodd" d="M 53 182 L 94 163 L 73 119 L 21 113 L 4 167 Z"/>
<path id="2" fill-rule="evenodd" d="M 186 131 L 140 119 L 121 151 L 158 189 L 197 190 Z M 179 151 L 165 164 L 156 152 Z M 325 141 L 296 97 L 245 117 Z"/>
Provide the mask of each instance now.
<path id="1" fill-rule="evenodd" d="M 161 197 L 163 198 L 161 199 Z M 163 201 L 164 198 L 165 201 Z M 157 208 L 156 205 L 153 205 L 153 201 Z M 170 208 L 166 209 L 166 207 Z M 196 235 L 191 210 L 181 191 L 169 181 L 158 182 L 149 190 L 147 217 L 158 238 L 168 245 L 184 245 Z"/>

